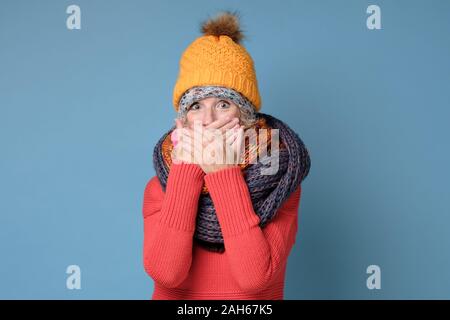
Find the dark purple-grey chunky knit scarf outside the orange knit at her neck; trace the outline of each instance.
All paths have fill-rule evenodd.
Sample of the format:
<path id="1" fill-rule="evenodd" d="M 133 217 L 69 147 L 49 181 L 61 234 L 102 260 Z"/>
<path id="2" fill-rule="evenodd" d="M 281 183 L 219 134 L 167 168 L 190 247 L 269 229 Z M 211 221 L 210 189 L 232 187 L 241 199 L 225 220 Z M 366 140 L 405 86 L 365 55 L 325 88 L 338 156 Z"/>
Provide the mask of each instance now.
<path id="1" fill-rule="evenodd" d="M 311 162 L 302 140 L 284 122 L 268 114 L 259 112 L 256 115 L 265 118 L 271 128 L 279 129 L 280 146 L 285 146 L 279 148 L 279 168 L 276 174 L 262 175 L 261 169 L 268 168 L 268 165 L 261 161 L 250 163 L 244 169 L 253 209 L 260 218 L 260 227 L 264 228 L 275 217 L 283 202 L 306 178 Z M 162 143 L 174 129 L 175 127 L 172 127 L 159 139 L 153 151 L 153 165 L 164 192 L 170 168 L 163 159 Z M 220 224 L 209 193 L 201 194 L 199 198 L 194 240 L 210 251 L 225 251 Z"/>

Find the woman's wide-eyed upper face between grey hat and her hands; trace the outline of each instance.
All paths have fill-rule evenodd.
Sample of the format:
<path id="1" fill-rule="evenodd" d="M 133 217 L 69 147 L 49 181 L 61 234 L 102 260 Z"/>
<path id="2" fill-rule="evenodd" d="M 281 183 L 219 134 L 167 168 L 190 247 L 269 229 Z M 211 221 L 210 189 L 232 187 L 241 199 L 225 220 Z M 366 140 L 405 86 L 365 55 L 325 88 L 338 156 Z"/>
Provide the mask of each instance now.
<path id="1" fill-rule="evenodd" d="M 194 102 L 188 109 L 186 114 L 186 124 L 193 128 L 194 122 L 201 122 L 203 126 L 207 126 L 215 120 L 230 117 L 240 117 L 239 107 L 231 100 L 208 97 Z"/>

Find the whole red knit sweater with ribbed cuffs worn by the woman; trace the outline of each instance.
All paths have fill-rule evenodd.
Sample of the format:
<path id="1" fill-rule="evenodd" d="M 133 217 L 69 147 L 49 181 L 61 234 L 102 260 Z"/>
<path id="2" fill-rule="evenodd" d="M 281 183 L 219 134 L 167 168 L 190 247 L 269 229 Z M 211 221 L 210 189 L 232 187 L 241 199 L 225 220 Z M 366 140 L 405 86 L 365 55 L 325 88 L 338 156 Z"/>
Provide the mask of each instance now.
<path id="1" fill-rule="evenodd" d="M 224 253 L 193 242 L 203 182 L 216 209 Z M 143 262 L 155 283 L 152 299 L 283 299 L 300 193 L 301 186 L 261 229 L 239 167 L 205 175 L 197 164 L 172 164 L 165 193 L 154 176 L 143 201 Z"/>

